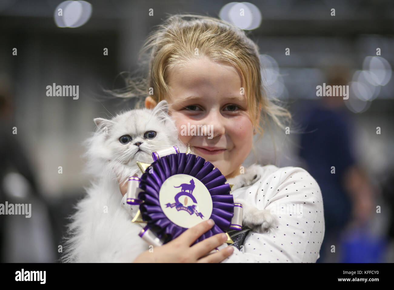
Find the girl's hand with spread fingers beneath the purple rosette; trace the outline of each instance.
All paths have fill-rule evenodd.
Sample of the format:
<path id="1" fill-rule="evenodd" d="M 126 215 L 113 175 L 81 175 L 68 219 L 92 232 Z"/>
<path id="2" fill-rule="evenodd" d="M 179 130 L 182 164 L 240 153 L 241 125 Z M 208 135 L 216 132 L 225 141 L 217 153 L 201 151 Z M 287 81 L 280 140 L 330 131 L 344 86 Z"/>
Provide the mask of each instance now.
<path id="1" fill-rule="evenodd" d="M 223 261 L 232 254 L 234 247 L 227 246 L 216 253 L 205 255 L 227 240 L 224 233 L 216 234 L 190 247 L 196 239 L 212 228 L 214 223 L 210 225 L 208 221 L 189 228 L 160 247 L 154 247 L 152 252 L 149 250 L 143 252 L 133 263 L 219 263 Z"/>

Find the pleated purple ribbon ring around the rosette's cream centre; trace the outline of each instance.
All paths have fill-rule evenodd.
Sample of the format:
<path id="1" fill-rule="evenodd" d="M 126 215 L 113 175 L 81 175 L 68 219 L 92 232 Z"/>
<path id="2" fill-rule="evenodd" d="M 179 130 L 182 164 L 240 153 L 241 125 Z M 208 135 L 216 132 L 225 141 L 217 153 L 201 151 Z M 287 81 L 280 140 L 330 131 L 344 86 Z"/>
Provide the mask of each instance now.
<path id="1" fill-rule="evenodd" d="M 212 163 L 200 156 L 174 153 L 154 161 L 141 176 L 139 188 L 143 191 L 138 194 L 138 198 L 143 200 L 143 203 L 139 210 L 143 220 L 147 221 L 147 228 L 155 232 L 164 243 L 177 238 L 187 230 L 170 221 L 159 203 L 160 187 L 167 178 L 175 174 L 188 174 L 197 178 L 205 185 L 212 198 L 213 209 L 210 219 L 215 221 L 215 225 L 193 244 L 230 229 L 234 216 L 231 188 L 229 184 L 225 184 L 227 180 L 219 169 L 213 168 Z"/>

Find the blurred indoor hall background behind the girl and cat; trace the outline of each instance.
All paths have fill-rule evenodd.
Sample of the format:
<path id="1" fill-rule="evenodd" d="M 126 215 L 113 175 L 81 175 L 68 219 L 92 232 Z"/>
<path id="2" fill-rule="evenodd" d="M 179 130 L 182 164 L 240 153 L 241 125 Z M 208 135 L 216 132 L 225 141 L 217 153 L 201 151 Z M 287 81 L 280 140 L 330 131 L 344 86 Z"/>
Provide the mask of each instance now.
<path id="1" fill-rule="evenodd" d="M 89 184 L 81 142 L 93 118 L 134 107 L 102 88 L 123 88 L 119 74 L 139 68 L 153 26 L 184 12 L 248 30 L 260 48 L 269 97 L 294 119 L 256 141 L 245 165 L 300 166 L 318 181 L 318 262 L 393 262 L 391 0 L 1 0 L 0 203 L 32 207 L 30 218 L 0 215 L 0 261 L 58 260 L 67 216 Z M 53 83 L 78 85 L 79 98 L 47 96 Z M 323 83 L 349 85 L 349 99 L 317 96 Z"/>

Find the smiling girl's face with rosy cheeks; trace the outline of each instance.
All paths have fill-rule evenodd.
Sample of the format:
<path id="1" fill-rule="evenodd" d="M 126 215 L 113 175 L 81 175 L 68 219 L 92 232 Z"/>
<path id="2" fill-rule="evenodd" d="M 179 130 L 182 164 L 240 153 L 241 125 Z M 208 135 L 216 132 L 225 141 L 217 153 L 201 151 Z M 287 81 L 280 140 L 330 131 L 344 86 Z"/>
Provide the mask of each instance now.
<path id="1" fill-rule="evenodd" d="M 169 114 L 180 140 L 219 168 L 227 179 L 232 178 L 240 174 L 253 143 L 247 98 L 240 94 L 241 77 L 232 65 L 209 58 L 189 64 L 190 68 L 169 70 L 172 90 L 165 96 Z"/>

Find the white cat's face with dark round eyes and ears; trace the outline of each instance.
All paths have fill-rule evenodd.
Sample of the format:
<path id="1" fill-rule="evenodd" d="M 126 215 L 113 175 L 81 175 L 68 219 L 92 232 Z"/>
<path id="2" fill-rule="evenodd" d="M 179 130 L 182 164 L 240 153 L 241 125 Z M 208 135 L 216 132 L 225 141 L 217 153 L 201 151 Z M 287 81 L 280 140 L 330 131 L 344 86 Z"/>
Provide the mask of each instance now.
<path id="1" fill-rule="evenodd" d="M 151 163 L 152 152 L 172 146 L 178 138 L 176 127 L 167 115 L 167 102 L 156 110 L 136 109 L 111 120 L 95 119 L 104 135 L 103 146 L 109 161 L 136 165 L 136 161 Z M 175 138 L 174 138 L 175 137 Z"/>

